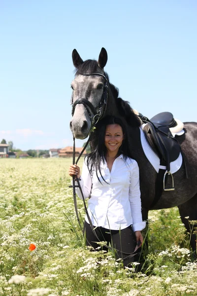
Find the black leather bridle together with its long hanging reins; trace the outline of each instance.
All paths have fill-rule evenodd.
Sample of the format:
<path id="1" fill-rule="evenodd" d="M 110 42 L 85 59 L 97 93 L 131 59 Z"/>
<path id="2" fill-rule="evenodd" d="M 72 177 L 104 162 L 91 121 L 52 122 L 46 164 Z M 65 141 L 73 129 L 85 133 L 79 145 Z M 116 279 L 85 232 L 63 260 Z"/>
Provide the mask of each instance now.
<path id="1" fill-rule="evenodd" d="M 102 92 L 102 97 L 100 99 L 100 103 L 99 103 L 99 106 L 98 108 L 95 108 L 93 106 L 93 104 L 91 102 L 89 102 L 87 99 L 85 98 L 82 98 L 82 99 L 77 99 L 74 103 L 73 103 L 73 93 L 72 93 L 72 96 L 71 96 L 71 105 L 72 105 L 72 116 L 74 114 L 74 111 L 75 111 L 75 107 L 76 105 L 78 104 L 82 104 L 84 105 L 86 111 L 88 112 L 89 114 L 89 117 L 91 119 L 91 130 L 90 130 L 90 134 L 89 134 L 89 138 L 88 138 L 88 141 L 86 142 L 86 145 L 84 146 L 84 148 L 82 149 L 81 153 L 79 154 L 77 160 L 75 161 L 75 138 L 73 136 L 73 159 L 72 159 L 72 164 L 77 164 L 81 155 L 83 154 L 83 152 L 85 151 L 86 147 L 88 146 L 89 142 L 90 142 L 90 138 L 91 138 L 91 133 L 92 131 L 94 130 L 94 127 L 95 125 L 97 124 L 97 122 L 99 121 L 99 119 L 101 117 L 103 117 L 104 113 L 105 113 L 105 110 L 106 110 L 106 106 L 107 106 L 107 99 L 108 99 L 108 85 L 107 85 L 107 77 L 104 75 L 104 74 L 101 74 L 101 73 L 78 73 L 80 75 L 85 75 L 85 76 L 91 76 L 91 75 L 99 75 L 99 76 L 102 76 L 104 77 L 105 79 L 105 84 L 103 86 L 103 92 Z M 97 109 L 98 109 L 98 112 L 97 112 Z M 93 116 L 91 115 L 91 112 L 90 110 L 92 111 L 93 113 Z M 77 200 L 76 200 L 76 190 L 75 188 L 78 187 L 80 189 L 80 192 L 81 192 L 81 195 L 82 195 L 82 199 L 83 199 L 83 204 L 84 204 L 84 208 L 85 208 L 85 212 L 86 212 L 86 215 L 87 215 L 87 218 L 88 218 L 88 221 L 90 223 L 90 226 L 92 228 L 92 231 L 94 233 L 94 235 L 96 236 L 96 238 L 98 239 L 98 241 L 100 242 L 99 240 L 99 237 L 95 231 L 95 227 L 90 219 L 90 216 L 88 214 L 88 209 L 87 209 L 87 206 L 86 206 L 86 203 L 85 203 L 85 198 L 84 198 L 84 195 L 83 195 L 83 191 L 81 189 L 81 185 L 80 185 L 80 179 L 78 179 L 77 177 L 73 176 L 72 177 L 72 185 L 69 186 L 69 187 L 72 187 L 72 190 L 73 190 L 73 201 L 74 201 L 74 208 L 75 208 L 75 213 L 76 213 L 76 217 L 77 217 L 77 221 L 79 223 L 79 226 L 83 232 L 83 228 L 81 226 L 81 222 L 80 222 L 80 218 L 79 218 L 79 213 L 78 213 L 78 209 L 77 209 Z M 77 182 L 77 185 L 75 185 L 75 182 Z M 137 250 L 137 246 L 134 250 L 133 253 L 129 254 L 129 253 L 125 253 L 125 252 L 122 252 L 120 250 L 117 250 L 115 248 L 112 248 L 110 246 L 107 246 L 106 244 L 104 244 L 104 246 L 106 248 L 108 248 L 109 250 L 111 251 L 116 251 L 117 253 L 121 253 L 121 254 L 125 254 L 125 255 L 128 255 L 127 258 L 132 258 L 133 256 L 136 255 L 136 250 Z"/>

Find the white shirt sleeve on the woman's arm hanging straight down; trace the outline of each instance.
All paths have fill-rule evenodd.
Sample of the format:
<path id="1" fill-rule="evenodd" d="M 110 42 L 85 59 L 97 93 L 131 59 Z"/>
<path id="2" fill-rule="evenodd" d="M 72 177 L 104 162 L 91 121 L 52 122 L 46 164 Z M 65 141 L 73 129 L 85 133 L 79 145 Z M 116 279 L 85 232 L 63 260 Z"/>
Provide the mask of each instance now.
<path id="1" fill-rule="evenodd" d="M 131 164 L 131 184 L 129 189 L 129 200 L 131 206 L 133 231 L 140 231 L 146 227 L 146 222 L 142 221 L 141 198 L 139 188 L 139 167 L 135 160 Z"/>

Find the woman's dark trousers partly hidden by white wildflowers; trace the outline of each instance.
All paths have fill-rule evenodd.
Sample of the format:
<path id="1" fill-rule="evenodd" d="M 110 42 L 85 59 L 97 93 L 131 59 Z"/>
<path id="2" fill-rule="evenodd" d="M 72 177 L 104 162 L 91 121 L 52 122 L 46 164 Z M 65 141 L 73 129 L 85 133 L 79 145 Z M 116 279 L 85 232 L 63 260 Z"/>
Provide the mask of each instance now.
<path id="1" fill-rule="evenodd" d="M 97 242 L 106 241 L 107 245 L 110 243 L 112 246 L 116 259 L 122 258 L 124 266 L 131 267 L 130 263 L 136 260 L 135 257 L 129 257 L 136 247 L 136 239 L 132 227 L 129 226 L 122 230 L 97 227 L 95 231 L 99 240 L 93 233 L 90 224 L 86 221 L 84 222 L 83 232 L 86 238 L 86 246 L 91 246 L 96 250 L 100 246 Z M 108 251 L 108 248 L 102 246 L 102 250 Z"/>

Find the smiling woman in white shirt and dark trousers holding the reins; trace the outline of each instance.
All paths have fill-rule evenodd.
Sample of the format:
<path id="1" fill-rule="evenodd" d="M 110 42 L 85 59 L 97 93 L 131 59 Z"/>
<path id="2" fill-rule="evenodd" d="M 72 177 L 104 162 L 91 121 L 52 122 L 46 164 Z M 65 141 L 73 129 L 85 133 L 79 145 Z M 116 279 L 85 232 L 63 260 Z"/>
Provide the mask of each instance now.
<path id="1" fill-rule="evenodd" d="M 96 129 L 97 148 L 85 157 L 82 175 L 77 165 L 70 165 L 69 175 L 80 178 L 84 198 L 88 201 L 88 213 L 97 236 L 92 231 L 87 215 L 84 222 L 86 245 L 94 249 L 97 242 L 106 241 L 123 259 L 124 266 L 131 263 L 128 256 L 143 242 L 139 168 L 131 158 L 127 131 L 123 122 L 107 116 L 99 121 Z M 82 199 L 79 188 L 78 196 Z M 99 240 L 98 240 L 99 238 Z M 106 247 L 102 248 L 107 251 Z"/>

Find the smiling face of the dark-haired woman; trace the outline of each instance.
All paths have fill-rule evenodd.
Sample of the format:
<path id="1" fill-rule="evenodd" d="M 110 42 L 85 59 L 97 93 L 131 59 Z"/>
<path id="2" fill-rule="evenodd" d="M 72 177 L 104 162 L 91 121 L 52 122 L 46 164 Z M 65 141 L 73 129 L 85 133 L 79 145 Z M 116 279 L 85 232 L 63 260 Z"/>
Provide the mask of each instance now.
<path id="1" fill-rule="evenodd" d="M 124 135 L 119 124 L 109 124 L 105 130 L 105 147 L 109 154 L 117 154 L 123 143 Z"/>

